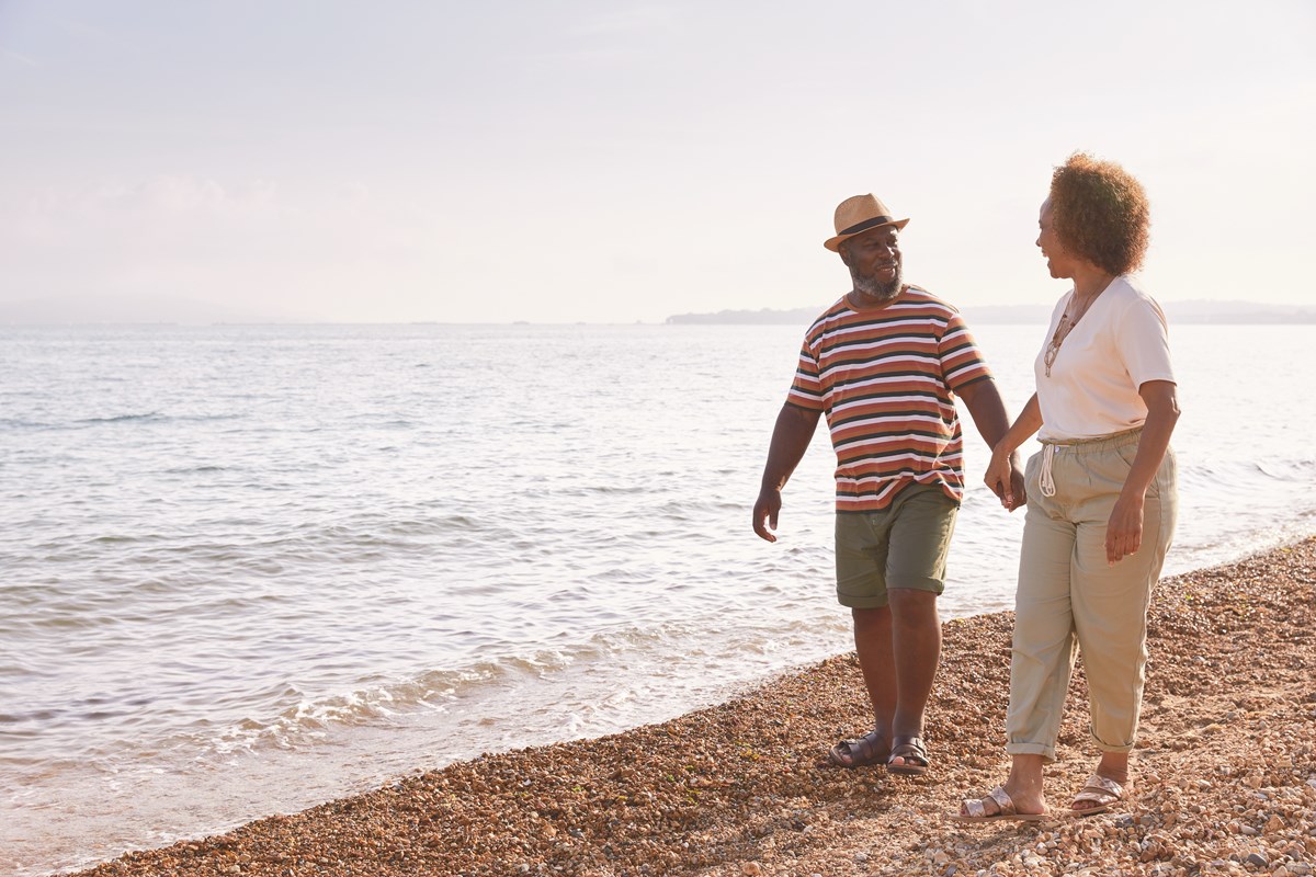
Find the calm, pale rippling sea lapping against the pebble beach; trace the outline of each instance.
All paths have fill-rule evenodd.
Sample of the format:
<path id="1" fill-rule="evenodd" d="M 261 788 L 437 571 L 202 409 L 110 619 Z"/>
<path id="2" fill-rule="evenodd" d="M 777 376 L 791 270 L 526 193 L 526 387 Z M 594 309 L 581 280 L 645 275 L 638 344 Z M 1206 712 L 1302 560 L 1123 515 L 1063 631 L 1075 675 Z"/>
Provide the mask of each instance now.
<path id="1" fill-rule="evenodd" d="M 0 326 L 0 874 L 658 722 L 849 651 L 825 430 L 780 540 L 750 529 L 803 330 Z M 975 331 L 1017 413 L 1044 327 Z M 1166 572 L 1316 533 L 1316 327 L 1171 344 Z M 962 417 L 944 618 L 1012 607 L 1023 527 Z"/>

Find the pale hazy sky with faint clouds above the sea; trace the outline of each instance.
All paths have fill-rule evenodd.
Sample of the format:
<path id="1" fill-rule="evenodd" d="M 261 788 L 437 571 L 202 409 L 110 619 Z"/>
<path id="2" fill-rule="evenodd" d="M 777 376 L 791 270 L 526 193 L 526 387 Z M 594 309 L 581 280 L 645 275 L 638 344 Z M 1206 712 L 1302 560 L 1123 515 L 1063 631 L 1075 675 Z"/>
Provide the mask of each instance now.
<path id="1" fill-rule="evenodd" d="M 1316 301 L 1316 3 L 0 0 L 0 313 L 661 322 L 829 305 L 833 210 L 963 308 L 1083 150 L 1162 301 Z"/>

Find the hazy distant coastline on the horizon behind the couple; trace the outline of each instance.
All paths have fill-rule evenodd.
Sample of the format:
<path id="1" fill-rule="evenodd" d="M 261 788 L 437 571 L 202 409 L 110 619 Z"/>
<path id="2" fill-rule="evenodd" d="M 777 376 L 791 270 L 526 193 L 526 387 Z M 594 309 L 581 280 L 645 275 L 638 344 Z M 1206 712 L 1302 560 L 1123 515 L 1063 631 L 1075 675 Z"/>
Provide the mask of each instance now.
<path id="1" fill-rule="evenodd" d="M 667 325 L 808 325 L 817 318 L 822 306 L 791 310 L 719 310 L 716 313 L 687 313 L 667 317 Z M 973 323 L 1030 325 L 1050 320 L 1051 305 L 995 305 L 962 308 L 965 318 Z M 1170 301 L 1165 302 L 1166 317 L 1173 323 L 1217 325 L 1316 325 L 1316 309 L 1295 305 L 1262 305 L 1249 301 Z"/>

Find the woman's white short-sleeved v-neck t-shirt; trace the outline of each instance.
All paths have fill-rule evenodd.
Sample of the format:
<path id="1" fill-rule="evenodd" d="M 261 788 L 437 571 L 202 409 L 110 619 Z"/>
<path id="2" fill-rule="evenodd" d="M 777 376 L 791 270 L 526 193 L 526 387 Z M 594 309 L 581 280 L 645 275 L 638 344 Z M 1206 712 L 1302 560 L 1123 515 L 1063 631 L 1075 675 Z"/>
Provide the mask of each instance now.
<path id="1" fill-rule="evenodd" d="M 1096 297 L 1070 330 L 1046 375 L 1046 346 L 1074 291 L 1051 313 L 1033 363 L 1042 429 L 1037 438 L 1066 442 L 1132 430 L 1148 418 L 1138 388 L 1149 380 L 1174 383 L 1170 342 L 1161 306 L 1121 275 Z"/>

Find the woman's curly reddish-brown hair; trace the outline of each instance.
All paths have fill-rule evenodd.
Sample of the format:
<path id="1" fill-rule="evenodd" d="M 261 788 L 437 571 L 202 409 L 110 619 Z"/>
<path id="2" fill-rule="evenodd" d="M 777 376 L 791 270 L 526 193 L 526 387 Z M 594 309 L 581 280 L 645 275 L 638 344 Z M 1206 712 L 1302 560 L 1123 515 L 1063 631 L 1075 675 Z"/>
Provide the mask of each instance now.
<path id="1" fill-rule="evenodd" d="M 1074 153 L 1051 174 L 1051 225 L 1065 249 L 1113 275 L 1148 252 L 1152 208 L 1142 184 L 1115 162 Z"/>

